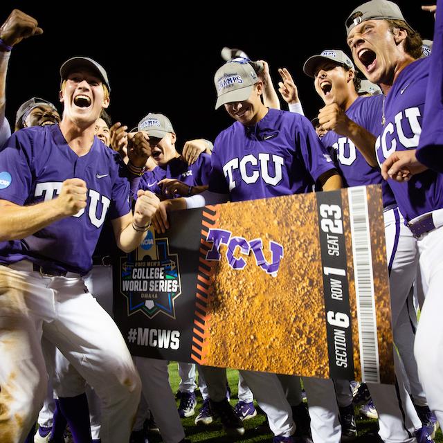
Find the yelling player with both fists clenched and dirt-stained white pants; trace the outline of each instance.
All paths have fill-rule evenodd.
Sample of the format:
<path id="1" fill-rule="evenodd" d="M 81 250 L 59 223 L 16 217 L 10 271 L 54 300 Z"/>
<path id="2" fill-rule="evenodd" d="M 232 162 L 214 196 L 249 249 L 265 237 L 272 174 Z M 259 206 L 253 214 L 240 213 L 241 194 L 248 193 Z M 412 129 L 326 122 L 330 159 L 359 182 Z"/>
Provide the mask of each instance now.
<path id="1" fill-rule="evenodd" d="M 102 400 L 102 442 L 120 443 L 129 439 L 141 383 L 82 275 L 108 212 L 118 246 L 132 251 L 159 200 L 139 191 L 132 215 L 118 156 L 93 138 L 109 105 L 105 69 L 74 57 L 60 73 L 60 126 L 16 132 L 0 152 L 0 433 L 5 443 L 22 442 L 37 417 L 46 393 L 43 329 Z"/>

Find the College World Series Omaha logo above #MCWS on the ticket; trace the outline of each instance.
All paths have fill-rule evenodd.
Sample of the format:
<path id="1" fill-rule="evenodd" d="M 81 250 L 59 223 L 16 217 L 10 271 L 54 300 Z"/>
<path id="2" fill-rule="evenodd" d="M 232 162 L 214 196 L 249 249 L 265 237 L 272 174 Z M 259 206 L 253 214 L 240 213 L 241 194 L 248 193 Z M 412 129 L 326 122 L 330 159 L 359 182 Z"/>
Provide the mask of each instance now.
<path id="1" fill-rule="evenodd" d="M 148 318 L 161 313 L 176 318 L 179 257 L 170 253 L 168 238 L 156 238 L 151 228 L 135 253 L 120 257 L 120 269 L 120 292 L 127 298 L 128 315 L 141 311 Z"/>

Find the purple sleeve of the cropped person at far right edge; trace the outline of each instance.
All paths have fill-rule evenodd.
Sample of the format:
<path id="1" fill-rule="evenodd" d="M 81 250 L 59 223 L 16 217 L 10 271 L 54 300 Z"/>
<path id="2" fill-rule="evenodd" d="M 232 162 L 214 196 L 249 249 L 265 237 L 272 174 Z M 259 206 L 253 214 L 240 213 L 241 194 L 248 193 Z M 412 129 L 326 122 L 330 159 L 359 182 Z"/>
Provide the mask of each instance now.
<path id="1" fill-rule="evenodd" d="M 443 172 L 443 2 L 437 1 L 434 40 L 429 66 L 426 109 L 417 159 L 428 168 Z"/>

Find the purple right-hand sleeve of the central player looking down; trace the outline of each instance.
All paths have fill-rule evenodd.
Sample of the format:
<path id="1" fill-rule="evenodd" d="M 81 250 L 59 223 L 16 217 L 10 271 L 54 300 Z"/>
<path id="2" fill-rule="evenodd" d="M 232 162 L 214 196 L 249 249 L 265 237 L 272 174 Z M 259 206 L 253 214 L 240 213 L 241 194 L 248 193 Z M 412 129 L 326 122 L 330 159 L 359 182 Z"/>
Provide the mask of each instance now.
<path id="1" fill-rule="evenodd" d="M 335 169 L 329 152 L 307 118 L 300 119 L 300 127 L 296 131 L 296 146 L 300 147 L 300 154 L 307 172 L 314 181 L 317 181 L 325 172 Z"/>

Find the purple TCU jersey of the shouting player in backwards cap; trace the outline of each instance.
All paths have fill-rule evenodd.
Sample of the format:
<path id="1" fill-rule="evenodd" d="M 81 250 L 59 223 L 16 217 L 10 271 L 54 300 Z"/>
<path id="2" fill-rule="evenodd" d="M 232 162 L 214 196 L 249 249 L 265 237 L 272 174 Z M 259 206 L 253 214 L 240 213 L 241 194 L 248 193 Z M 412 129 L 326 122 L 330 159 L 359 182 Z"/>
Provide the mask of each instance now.
<path id="1" fill-rule="evenodd" d="M 380 164 L 396 150 L 415 150 L 418 146 L 429 62 L 429 57 L 425 57 L 406 66 L 386 96 L 386 123 L 376 143 Z M 427 170 L 406 183 L 388 183 L 406 221 L 443 208 L 443 176 L 437 172 Z"/>

